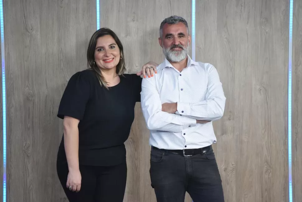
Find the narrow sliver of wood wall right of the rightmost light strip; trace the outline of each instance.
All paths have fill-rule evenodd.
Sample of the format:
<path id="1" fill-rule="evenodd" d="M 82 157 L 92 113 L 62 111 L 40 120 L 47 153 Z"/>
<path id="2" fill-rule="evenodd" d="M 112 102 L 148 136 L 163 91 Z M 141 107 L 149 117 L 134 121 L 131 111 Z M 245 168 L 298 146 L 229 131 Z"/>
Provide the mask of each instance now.
<path id="1" fill-rule="evenodd" d="M 294 1 L 292 75 L 293 201 L 302 201 L 302 1 Z"/>

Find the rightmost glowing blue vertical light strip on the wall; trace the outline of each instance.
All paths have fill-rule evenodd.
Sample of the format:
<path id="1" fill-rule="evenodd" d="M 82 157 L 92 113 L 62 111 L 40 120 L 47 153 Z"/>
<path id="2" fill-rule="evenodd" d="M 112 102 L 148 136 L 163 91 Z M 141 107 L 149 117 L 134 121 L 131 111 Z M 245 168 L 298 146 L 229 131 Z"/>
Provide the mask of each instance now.
<path id="1" fill-rule="evenodd" d="M 293 183 L 291 167 L 291 79 L 292 79 L 292 48 L 293 48 L 293 0 L 290 0 L 289 40 L 288 40 L 288 191 L 289 202 L 293 202 Z"/>

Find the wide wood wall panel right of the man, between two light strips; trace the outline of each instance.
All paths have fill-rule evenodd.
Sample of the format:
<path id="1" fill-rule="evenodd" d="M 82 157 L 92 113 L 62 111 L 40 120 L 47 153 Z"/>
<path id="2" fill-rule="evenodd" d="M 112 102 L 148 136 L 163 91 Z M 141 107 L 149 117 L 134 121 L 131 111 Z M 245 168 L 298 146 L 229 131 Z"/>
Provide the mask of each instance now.
<path id="1" fill-rule="evenodd" d="M 226 202 L 288 201 L 287 0 L 196 1 L 196 60 L 223 83 L 215 153 Z"/>

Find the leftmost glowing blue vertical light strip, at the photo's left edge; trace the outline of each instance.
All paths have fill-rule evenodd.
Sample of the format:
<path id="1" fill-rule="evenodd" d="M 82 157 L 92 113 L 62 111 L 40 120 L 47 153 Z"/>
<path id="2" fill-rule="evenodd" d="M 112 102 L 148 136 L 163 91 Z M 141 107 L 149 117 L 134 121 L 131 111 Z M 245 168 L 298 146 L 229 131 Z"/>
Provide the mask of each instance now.
<path id="1" fill-rule="evenodd" d="M 6 88 L 5 88 L 5 52 L 4 52 L 3 2 L 0 0 L 0 32 L 2 62 L 2 117 L 3 117 L 3 202 L 6 202 Z"/>

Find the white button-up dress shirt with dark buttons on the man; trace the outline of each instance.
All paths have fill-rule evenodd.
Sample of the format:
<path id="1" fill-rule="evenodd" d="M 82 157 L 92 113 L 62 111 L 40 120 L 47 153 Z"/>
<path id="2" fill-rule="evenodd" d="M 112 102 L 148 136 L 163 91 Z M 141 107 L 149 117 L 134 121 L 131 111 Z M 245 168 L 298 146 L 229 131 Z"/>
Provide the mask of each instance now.
<path id="1" fill-rule="evenodd" d="M 223 116 L 225 96 L 216 68 L 188 56 L 179 72 L 165 59 L 157 74 L 143 79 L 141 106 L 149 144 L 160 149 L 196 149 L 215 143 L 212 121 Z M 163 103 L 177 102 L 177 112 L 162 111 Z M 196 120 L 208 120 L 201 124 Z"/>

